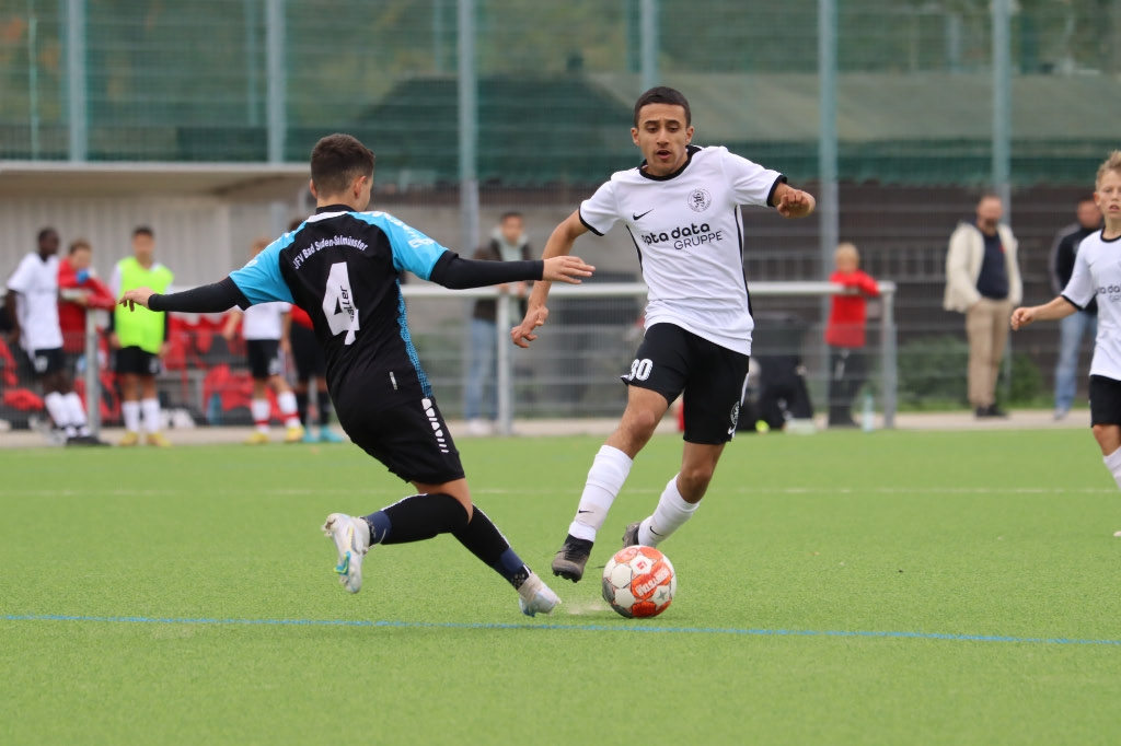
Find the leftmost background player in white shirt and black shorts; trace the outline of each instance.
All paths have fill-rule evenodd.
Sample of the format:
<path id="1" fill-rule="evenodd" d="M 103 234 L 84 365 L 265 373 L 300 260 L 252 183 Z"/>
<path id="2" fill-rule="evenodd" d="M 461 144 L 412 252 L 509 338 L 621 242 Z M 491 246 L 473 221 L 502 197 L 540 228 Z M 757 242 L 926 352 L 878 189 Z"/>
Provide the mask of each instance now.
<path id="1" fill-rule="evenodd" d="M 73 390 L 58 324 L 58 233 L 39 231 L 38 249 L 8 279 L 6 298 L 12 338 L 31 360 L 43 403 L 67 446 L 105 446 L 90 431 L 85 407 Z"/>

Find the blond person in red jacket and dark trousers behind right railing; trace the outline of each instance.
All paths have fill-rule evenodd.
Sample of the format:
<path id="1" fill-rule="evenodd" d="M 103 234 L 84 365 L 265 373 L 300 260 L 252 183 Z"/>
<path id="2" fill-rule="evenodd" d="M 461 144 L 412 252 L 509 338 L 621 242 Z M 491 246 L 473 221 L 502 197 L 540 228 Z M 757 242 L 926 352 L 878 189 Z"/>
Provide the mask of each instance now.
<path id="1" fill-rule="evenodd" d="M 868 299 L 880 295 L 879 286 L 860 270 L 860 252 L 851 243 L 842 243 L 833 254 L 836 270 L 830 282 L 842 285 L 846 292 L 833 296 L 830 320 L 825 325 L 825 343 L 830 346 L 830 420 L 831 428 L 852 428 L 852 400 L 864 384 L 868 362 L 864 355 L 864 327 L 868 321 Z"/>

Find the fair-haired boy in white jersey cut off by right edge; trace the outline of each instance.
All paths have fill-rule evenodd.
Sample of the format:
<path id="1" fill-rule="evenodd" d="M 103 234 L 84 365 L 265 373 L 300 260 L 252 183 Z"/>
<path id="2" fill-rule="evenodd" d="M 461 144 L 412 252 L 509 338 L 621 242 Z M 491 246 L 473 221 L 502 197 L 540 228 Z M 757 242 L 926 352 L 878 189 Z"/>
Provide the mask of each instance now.
<path id="1" fill-rule="evenodd" d="M 1121 150 L 1097 169 L 1094 204 L 1105 226 L 1078 245 L 1063 292 L 1041 306 L 1012 311 L 1012 328 L 1066 318 L 1097 300 L 1097 338 L 1090 364 L 1090 423 L 1105 468 L 1121 487 Z M 1121 538 L 1121 531 L 1113 534 Z"/>

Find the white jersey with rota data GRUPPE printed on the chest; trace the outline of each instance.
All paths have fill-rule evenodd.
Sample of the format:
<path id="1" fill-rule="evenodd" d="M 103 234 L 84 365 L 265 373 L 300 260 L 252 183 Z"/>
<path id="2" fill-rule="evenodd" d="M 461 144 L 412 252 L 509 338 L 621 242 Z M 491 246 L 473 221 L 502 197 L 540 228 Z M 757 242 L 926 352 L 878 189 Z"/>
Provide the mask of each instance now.
<path id="1" fill-rule="evenodd" d="M 669 176 L 613 174 L 581 203 L 580 220 L 596 235 L 618 221 L 627 226 L 649 288 L 646 328 L 668 321 L 750 355 L 740 205 L 767 205 L 782 180 L 726 148 L 689 146 L 685 166 Z"/>

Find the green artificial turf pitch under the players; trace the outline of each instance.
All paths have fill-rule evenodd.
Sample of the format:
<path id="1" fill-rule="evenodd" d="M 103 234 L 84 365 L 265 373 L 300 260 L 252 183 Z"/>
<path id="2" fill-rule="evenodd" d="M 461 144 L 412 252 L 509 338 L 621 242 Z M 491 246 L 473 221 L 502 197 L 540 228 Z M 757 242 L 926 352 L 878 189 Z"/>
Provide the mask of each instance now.
<path id="1" fill-rule="evenodd" d="M 323 517 L 407 494 L 350 446 L 0 451 L 0 744 L 1121 740 L 1121 495 L 1088 431 L 736 438 L 649 621 L 596 568 L 677 438 L 589 577 L 548 574 L 599 444 L 460 444 L 564 599 L 535 619 L 450 537 L 376 548 L 345 594 Z"/>

